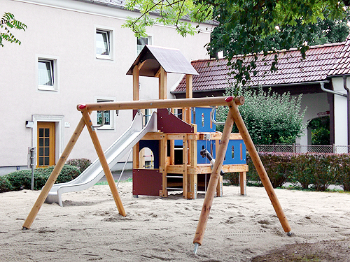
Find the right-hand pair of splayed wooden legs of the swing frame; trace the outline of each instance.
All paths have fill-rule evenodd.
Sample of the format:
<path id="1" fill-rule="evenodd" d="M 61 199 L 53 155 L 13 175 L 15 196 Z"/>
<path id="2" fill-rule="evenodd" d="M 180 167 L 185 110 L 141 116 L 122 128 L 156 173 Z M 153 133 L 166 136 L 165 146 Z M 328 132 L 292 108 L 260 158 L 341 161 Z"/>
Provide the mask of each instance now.
<path id="1" fill-rule="evenodd" d="M 197 254 L 198 247 L 202 245 L 204 231 L 207 227 L 207 222 L 209 219 L 209 212 L 211 210 L 211 205 L 214 200 L 216 184 L 218 183 L 221 166 L 223 165 L 223 159 L 225 157 L 225 152 L 228 148 L 228 141 L 230 140 L 230 133 L 232 131 L 232 126 L 234 122 L 237 125 L 239 133 L 241 133 L 244 143 L 246 144 L 246 148 L 249 152 L 249 155 L 251 156 L 254 166 L 258 171 L 260 180 L 263 186 L 265 187 L 265 190 L 267 191 L 267 195 L 269 196 L 269 199 L 274 207 L 277 217 L 279 218 L 283 230 L 286 233 L 288 233 L 288 235 L 291 235 L 291 228 L 289 222 L 281 208 L 281 204 L 279 203 L 279 200 L 274 192 L 274 188 L 272 187 L 272 184 L 269 181 L 269 177 L 266 173 L 264 166 L 262 165 L 258 152 L 255 149 L 253 140 L 251 140 L 251 136 L 249 135 L 248 130 L 246 129 L 246 125 L 244 124 L 244 121 L 241 118 L 241 115 L 239 114 L 237 104 L 235 103 L 235 100 L 232 96 L 225 99 L 225 101 L 228 103 L 230 110 L 223 129 L 223 136 L 221 138 L 218 154 L 216 156 L 216 161 L 214 163 L 214 167 L 209 180 L 207 193 L 204 198 L 202 212 L 200 214 L 200 220 L 198 221 L 197 230 L 195 232 L 195 238 L 193 239 L 193 243 L 195 244 L 195 254 Z"/>

